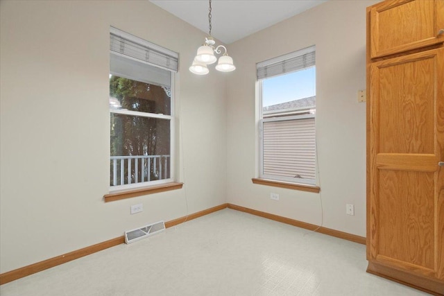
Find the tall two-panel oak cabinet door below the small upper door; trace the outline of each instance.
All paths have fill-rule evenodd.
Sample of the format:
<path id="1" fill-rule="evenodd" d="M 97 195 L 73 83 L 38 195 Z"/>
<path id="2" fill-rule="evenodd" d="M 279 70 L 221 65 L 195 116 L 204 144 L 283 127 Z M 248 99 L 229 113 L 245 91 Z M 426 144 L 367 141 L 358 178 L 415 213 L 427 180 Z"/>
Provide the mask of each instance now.
<path id="1" fill-rule="evenodd" d="M 444 48 L 370 65 L 369 261 L 444 280 Z M 444 287 L 442 281 L 441 287 Z"/>

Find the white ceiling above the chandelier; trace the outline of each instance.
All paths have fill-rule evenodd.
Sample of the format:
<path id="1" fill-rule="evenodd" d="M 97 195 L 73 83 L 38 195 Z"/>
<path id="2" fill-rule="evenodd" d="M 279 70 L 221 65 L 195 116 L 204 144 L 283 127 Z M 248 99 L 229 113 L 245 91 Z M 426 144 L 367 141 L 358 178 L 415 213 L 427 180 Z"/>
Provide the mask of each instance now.
<path id="1" fill-rule="evenodd" d="M 208 33 L 207 0 L 150 0 Z M 212 0 L 212 36 L 230 44 L 327 0 Z"/>

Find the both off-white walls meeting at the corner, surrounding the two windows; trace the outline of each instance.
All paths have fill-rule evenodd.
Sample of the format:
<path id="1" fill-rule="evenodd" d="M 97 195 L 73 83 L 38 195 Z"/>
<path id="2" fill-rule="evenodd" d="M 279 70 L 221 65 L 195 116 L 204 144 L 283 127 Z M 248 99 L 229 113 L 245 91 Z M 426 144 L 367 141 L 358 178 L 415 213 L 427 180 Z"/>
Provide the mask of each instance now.
<path id="1" fill-rule="evenodd" d="M 366 107 L 357 90 L 366 87 L 365 8 L 375 2 L 327 1 L 230 44 L 237 70 L 201 77 L 187 68 L 205 33 L 148 1 L 1 1 L 0 273 L 185 216 L 185 192 L 189 213 L 230 202 L 313 224 L 322 196 L 323 226 L 365 236 Z M 182 190 L 103 202 L 109 26 L 180 53 Z M 322 195 L 252 184 L 255 63 L 313 44 Z M 144 211 L 130 215 L 140 202 Z"/>

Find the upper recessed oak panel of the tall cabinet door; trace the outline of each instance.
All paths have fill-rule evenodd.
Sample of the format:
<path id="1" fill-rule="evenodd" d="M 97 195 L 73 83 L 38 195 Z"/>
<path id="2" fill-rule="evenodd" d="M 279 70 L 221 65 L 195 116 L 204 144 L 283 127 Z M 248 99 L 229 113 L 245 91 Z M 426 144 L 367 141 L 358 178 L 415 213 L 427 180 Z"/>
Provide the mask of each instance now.
<path id="1" fill-rule="evenodd" d="M 379 153 L 434 153 L 434 56 L 379 65 Z"/>

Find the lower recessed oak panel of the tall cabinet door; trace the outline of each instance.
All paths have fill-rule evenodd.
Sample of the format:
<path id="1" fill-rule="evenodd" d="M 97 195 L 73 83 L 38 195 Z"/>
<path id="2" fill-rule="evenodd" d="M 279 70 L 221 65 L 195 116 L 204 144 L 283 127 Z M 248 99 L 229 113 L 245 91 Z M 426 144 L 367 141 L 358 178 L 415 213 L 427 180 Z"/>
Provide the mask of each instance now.
<path id="1" fill-rule="evenodd" d="M 379 170 L 378 255 L 433 273 L 434 173 Z"/>

